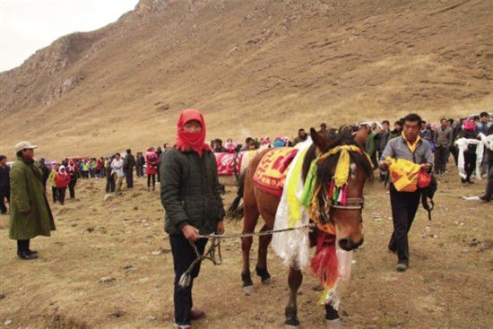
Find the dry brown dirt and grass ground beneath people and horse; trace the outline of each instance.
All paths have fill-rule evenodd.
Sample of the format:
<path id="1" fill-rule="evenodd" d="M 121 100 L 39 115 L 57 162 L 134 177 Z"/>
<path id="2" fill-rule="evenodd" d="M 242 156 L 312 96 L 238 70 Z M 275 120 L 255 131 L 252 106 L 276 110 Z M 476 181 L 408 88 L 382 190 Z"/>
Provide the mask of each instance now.
<path id="1" fill-rule="evenodd" d="M 411 229 L 411 268 L 394 271 L 387 252 L 392 220 L 388 195 L 368 185 L 365 244 L 355 254 L 350 286 L 342 300 L 342 321 L 350 328 L 487 328 L 493 323 L 493 207 L 466 201 L 484 183 L 463 187 L 455 170 L 440 178 L 433 221 L 419 209 Z M 0 321 L 25 328 L 157 328 L 173 322 L 173 263 L 163 232 L 159 192 L 132 191 L 104 201 L 102 180 L 79 181 L 77 200 L 53 206 L 57 230 L 35 238 L 37 261 L 15 256 L 8 216 L 0 217 Z M 229 189 L 224 200 L 232 201 Z M 241 223 L 228 224 L 239 232 Z M 224 263 L 203 264 L 195 305 L 208 317 L 198 328 L 280 328 L 288 298 L 287 269 L 269 254 L 272 285 L 255 281 L 255 293 L 241 290 L 239 240 L 223 245 Z M 252 253 L 256 259 L 256 240 Z M 298 299 L 304 327 L 323 327 L 316 305 L 316 280 L 305 275 Z"/>

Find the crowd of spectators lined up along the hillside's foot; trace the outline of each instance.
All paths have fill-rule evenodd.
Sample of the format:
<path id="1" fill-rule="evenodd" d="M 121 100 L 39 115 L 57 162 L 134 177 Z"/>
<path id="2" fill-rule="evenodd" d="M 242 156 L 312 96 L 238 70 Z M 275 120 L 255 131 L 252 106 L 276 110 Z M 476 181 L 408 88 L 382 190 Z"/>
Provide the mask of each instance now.
<path id="1" fill-rule="evenodd" d="M 403 121 L 399 119 L 394 122 L 394 128 L 391 128 L 390 122 L 384 120 L 381 123 L 371 122 L 355 125 L 355 131 L 359 126 L 366 126 L 369 129 L 369 137 L 365 144 L 365 151 L 368 153 L 373 162 L 374 168 L 378 169 L 378 161 L 381 160 L 386 144 L 402 135 Z M 479 116 L 466 117 L 460 119 L 442 118 L 439 124 L 432 124 L 423 121 L 419 131 L 419 137 L 428 141 L 433 153 L 433 169 L 435 174 L 444 174 L 450 155 L 454 158 L 455 166 L 459 164 L 459 148 L 455 141 L 460 138 L 467 140 L 478 140 L 480 134 L 488 136 L 491 134 L 493 124 L 489 120 L 487 112 L 480 113 Z M 328 126 L 323 123 L 320 125 L 319 133 L 327 133 Z M 231 138 L 226 143 L 220 138 L 210 141 L 209 146 L 213 152 L 245 152 L 257 150 L 261 147 L 282 147 L 294 146 L 302 143 L 308 138 L 307 131 L 304 128 L 298 129 L 298 135 L 291 141 L 289 137 L 276 137 L 273 142 L 270 137 L 253 138 L 247 137 L 245 143 L 235 143 Z M 474 174 L 477 161 L 477 145 L 471 143 L 463 151 L 463 167 L 465 177 L 461 177 L 463 185 L 473 184 L 471 177 Z M 59 162 L 46 161 L 40 159 L 38 163 L 42 172 L 43 186 L 47 182 L 51 186 L 53 203 L 65 203 L 65 192 L 68 188 L 71 199 L 75 198 L 75 186 L 78 179 L 105 178 L 107 193 L 121 194 L 123 181 L 125 178 L 126 188 L 134 186 L 134 172 L 136 177 L 147 177 L 147 189 L 149 192 L 156 188 L 156 181 L 160 182 L 160 162 L 166 152 L 170 149 L 169 143 L 164 143 L 162 148 L 149 147 L 146 152 L 137 152 L 132 154 L 131 150 L 126 150 L 125 155 L 115 153 L 108 157 L 97 158 L 65 158 Z M 480 163 L 480 174 L 488 177 L 489 167 L 493 162 L 493 157 L 489 156 L 485 148 L 484 156 Z M 4 200 L 10 199 L 10 188 L 8 184 L 8 166 L 6 166 L 6 157 L 0 156 L 0 207 L 2 213 L 6 212 Z M 380 179 L 387 178 L 387 171 L 380 169 Z M 481 199 L 488 202 L 491 198 L 493 187 L 487 188 L 485 195 Z"/>

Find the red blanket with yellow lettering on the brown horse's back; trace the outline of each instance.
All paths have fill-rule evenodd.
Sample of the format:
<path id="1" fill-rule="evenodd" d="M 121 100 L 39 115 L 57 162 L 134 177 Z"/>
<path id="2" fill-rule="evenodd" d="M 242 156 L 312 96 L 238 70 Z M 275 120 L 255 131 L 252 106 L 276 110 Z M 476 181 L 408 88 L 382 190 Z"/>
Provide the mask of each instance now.
<path id="1" fill-rule="evenodd" d="M 292 147 L 279 147 L 265 153 L 255 170 L 255 185 L 270 195 L 281 196 L 288 168 L 297 152 Z"/>

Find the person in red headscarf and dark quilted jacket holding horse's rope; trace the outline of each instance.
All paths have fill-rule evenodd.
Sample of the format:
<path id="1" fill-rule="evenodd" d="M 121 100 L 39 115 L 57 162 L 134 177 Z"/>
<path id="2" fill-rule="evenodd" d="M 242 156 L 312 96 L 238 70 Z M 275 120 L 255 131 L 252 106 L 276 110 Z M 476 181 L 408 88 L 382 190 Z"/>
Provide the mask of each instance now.
<path id="1" fill-rule="evenodd" d="M 192 287 L 200 263 L 195 265 L 188 287 L 178 285 L 195 259 L 190 241 L 203 254 L 207 239 L 199 238 L 199 234 L 224 232 L 216 158 L 204 143 L 205 134 L 203 115 L 192 108 L 184 110 L 177 121 L 175 146 L 160 164 L 160 199 L 166 211 L 165 229 L 175 266 L 175 322 L 179 328 L 187 328 L 192 320 L 205 316 L 203 311 L 192 308 Z"/>

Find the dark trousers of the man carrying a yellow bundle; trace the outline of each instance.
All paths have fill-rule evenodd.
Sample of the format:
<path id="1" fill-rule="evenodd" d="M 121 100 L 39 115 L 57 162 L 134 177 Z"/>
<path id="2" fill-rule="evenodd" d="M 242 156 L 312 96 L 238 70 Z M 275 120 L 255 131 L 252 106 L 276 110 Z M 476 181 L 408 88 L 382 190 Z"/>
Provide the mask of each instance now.
<path id="1" fill-rule="evenodd" d="M 399 263 L 409 264 L 408 233 L 416 211 L 418 211 L 420 195 L 419 192 L 399 192 L 394 184 L 390 185 L 394 233 L 392 233 L 388 247 L 397 252 Z"/>

